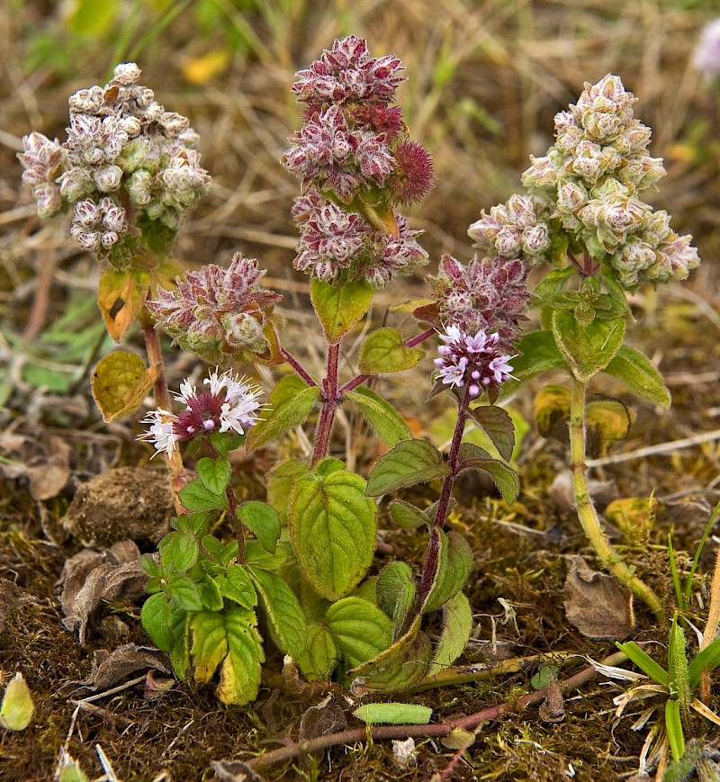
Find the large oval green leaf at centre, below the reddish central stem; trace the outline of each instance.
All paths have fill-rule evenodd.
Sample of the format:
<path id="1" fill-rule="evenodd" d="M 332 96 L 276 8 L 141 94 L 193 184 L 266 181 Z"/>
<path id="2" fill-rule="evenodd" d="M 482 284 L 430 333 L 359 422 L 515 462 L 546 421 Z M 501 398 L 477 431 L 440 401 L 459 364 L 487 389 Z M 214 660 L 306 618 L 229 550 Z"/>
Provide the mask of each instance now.
<path id="1" fill-rule="evenodd" d="M 365 575 L 375 552 L 376 515 L 365 480 L 353 472 L 310 473 L 295 482 L 290 537 L 303 575 L 322 597 L 342 598 Z"/>

